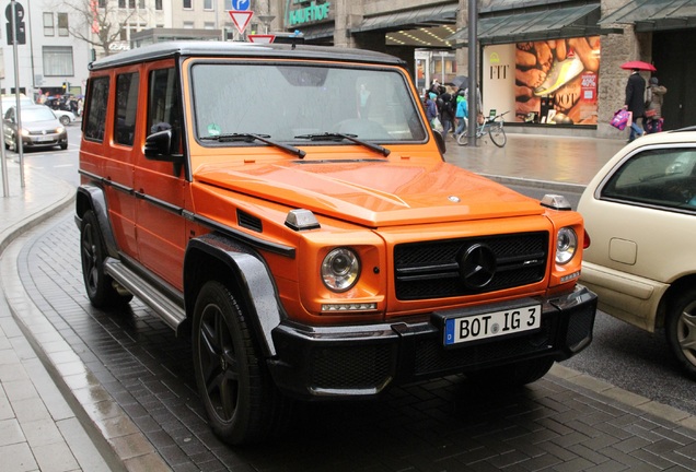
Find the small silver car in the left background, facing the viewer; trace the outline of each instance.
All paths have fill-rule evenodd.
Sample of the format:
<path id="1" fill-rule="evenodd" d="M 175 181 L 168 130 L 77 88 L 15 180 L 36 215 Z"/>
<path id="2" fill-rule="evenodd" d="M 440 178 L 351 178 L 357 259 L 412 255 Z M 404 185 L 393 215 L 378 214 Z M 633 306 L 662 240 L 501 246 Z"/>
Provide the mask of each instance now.
<path id="1" fill-rule="evenodd" d="M 68 132 L 58 121 L 53 110 L 43 105 L 22 107 L 22 129 L 18 130 L 16 107 L 4 114 L 2 131 L 5 149 L 18 149 L 18 135 L 21 135 L 24 149 L 54 148 L 68 149 Z"/>

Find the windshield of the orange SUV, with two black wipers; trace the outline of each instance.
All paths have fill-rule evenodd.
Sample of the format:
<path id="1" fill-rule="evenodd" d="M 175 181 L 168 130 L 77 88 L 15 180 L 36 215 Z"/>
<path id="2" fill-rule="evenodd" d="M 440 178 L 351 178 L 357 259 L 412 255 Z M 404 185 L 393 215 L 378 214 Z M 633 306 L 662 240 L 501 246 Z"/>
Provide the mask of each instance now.
<path id="1" fill-rule="evenodd" d="M 198 63 L 192 83 L 196 134 L 206 145 L 243 142 L 209 139 L 232 133 L 295 144 L 316 143 L 323 133 L 385 143 L 426 139 L 406 79 L 393 70 Z"/>

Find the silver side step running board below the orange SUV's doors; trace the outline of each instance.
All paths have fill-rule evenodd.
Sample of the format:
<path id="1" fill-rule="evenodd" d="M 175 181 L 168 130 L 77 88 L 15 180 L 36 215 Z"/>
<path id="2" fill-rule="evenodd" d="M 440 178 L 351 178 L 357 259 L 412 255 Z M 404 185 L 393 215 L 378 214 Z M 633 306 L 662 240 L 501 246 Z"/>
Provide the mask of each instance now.
<path id="1" fill-rule="evenodd" d="M 186 319 L 183 299 L 177 304 L 172 298 L 162 295 L 147 279 L 124 266 L 114 258 L 104 261 L 104 270 L 116 282 L 121 284 L 131 294 L 140 298 L 152 308 L 162 320 L 177 331 L 178 326 Z"/>

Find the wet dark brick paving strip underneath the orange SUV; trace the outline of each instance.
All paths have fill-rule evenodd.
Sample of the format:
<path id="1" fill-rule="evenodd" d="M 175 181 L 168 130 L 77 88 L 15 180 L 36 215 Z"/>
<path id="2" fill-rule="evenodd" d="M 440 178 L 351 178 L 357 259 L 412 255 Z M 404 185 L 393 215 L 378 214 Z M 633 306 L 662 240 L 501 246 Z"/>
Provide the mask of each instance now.
<path id="1" fill-rule="evenodd" d="M 18 255 L 21 284 L 90 367 L 82 377 L 105 390 L 92 397 L 84 389 L 96 384 L 66 376 L 107 438 L 119 438 L 112 446 L 130 455 L 127 464 L 161 457 L 175 471 L 696 470 L 692 416 L 558 365 L 510 392 L 477 391 L 452 376 L 376 402 L 302 404 L 285 436 L 229 448 L 206 424 L 188 341 L 177 340 L 138 300 L 124 312 L 90 306 L 71 215 L 56 216 L 36 234 Z M 53 350 L 48 358 L 65 362 L 65 353 Z M 147 445 L 131 445 L 131 434 Z"/>

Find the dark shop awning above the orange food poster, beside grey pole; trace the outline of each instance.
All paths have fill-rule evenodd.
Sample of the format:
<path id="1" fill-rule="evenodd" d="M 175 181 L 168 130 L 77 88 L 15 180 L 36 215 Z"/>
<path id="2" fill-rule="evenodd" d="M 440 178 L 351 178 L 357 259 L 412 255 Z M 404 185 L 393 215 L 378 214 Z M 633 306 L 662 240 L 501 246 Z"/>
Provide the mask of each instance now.
<path id="1" fill-rule="evenodd" d="M 479 16 L 476 37 L 482 45 L 524 43 L 620 33 L 598 26 L 600 5 L 560 7 L 541 11 Z M 446 38 L 454 46 L 468 44 L 468 27 Z"/>

